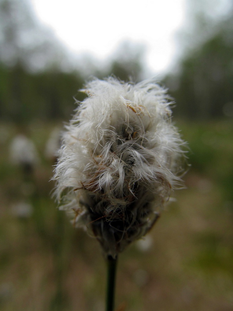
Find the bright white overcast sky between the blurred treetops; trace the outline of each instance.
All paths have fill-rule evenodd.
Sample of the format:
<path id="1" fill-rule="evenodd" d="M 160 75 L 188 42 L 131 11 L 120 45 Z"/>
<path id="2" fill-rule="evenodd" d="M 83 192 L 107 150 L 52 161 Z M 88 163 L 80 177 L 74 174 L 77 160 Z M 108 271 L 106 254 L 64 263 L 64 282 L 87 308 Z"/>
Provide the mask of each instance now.
<path id="1" fill-rule="evenodd" d="M 185 0 L 30 0 L 39 19 L 70 50 L 109 57 L 125 39 L 146 46 L 155 73 L 176 54 L 175 34 L 184 22 Z"/>

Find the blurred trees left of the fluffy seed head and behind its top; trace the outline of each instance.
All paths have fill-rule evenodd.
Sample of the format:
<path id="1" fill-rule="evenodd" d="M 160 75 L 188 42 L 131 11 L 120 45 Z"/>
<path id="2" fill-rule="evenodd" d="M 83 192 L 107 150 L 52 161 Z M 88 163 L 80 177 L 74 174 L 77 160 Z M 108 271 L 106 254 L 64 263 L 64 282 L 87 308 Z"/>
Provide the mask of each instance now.
<path id="1" fill-rule="evenodd" d="M 85 68 L 72 68 L 65 49 L 36 21 L 26 0 L 0 0 L 0 45 L 0 118 L 24 124 L 69 118 L 73 97 L 84 98 L 78 90 L 88 78 Z M 105 70 L 91 63 L 92 75 L 140 80 L 140 51 L 127 43 L 123 49 Z"/>

